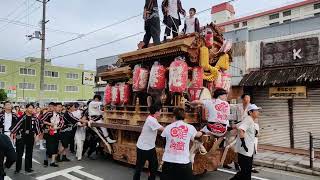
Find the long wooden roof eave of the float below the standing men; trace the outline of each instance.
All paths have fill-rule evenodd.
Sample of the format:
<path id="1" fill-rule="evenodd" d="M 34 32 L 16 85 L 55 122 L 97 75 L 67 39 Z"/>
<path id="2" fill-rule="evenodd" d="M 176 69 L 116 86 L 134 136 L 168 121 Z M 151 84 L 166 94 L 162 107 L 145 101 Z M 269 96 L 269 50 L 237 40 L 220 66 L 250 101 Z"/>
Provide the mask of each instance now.
<path id="1" fill-rule="evenodd" d="M 187 38 L 177 39 L 157 46 L 151 46 L 149 48 L 121 54 L 119 55 L 119 60 L 121 64 L 130 64 L 134 61 L 159 57 L 162 55 L 168 55 L 176 52 L 187 53 L 194 39 L 195 36 L 192 35 Z"/>

